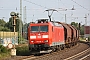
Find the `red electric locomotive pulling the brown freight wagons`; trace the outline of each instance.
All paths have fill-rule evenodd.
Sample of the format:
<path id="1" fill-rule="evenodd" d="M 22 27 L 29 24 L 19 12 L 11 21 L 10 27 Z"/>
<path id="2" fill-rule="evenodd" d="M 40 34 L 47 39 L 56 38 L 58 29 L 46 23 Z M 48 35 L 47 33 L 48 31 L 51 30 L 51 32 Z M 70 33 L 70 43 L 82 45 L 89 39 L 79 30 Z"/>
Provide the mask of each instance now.
<path id="1" fill-rule="evenodd" d="M 39 19 L 28 27 L 29 49 L 34 52 L 51 51 L 53 46 L 63 45 L 64 27 L 48 19 Z"/>

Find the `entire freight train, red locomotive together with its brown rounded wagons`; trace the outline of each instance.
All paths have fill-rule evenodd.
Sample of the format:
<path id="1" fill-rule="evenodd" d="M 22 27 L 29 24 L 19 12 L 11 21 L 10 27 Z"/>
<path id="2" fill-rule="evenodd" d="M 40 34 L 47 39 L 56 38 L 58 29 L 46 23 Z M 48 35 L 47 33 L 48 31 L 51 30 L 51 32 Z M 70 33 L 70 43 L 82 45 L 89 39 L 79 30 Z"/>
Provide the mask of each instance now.
<path id="1" fill-rule="evenodd" d="M 73 46 L 78 41 L 77 31 L 69 24 L 48 19 L 31 22 L 28 26 L 29 50 L 37 54 Z"/>

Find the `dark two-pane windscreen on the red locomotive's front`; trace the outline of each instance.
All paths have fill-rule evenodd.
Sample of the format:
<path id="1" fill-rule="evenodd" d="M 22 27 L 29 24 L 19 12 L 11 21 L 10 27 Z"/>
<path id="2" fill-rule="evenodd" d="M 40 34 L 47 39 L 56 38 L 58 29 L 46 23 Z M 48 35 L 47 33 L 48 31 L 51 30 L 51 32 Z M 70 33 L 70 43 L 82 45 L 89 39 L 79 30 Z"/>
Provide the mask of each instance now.
<path id="1" fill-rule="evenodd" d="M 31 26 L 31 32 L 48 32 L 48 25 Z"/>

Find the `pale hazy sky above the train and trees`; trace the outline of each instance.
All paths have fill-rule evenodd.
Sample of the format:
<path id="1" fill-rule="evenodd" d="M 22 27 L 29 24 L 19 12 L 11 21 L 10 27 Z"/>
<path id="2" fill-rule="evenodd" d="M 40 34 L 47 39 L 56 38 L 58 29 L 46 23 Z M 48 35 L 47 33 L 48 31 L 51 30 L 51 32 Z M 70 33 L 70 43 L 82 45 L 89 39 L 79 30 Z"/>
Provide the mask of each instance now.
<path id="1" fill-rule="evenodd" d="M 90 0 L 22 0 L 22 9 L 26 6 L 27 23 L 36 21 L 38 18 L 48 18 L 46 9 L 67 9 L 67 11 L 54 12 L 52 19 L 67 23 L 80 22 L 85 24 L 85 14 L 87 15 L 87 25 L 90 25 Z M 75 10 L 70 10 L 74 6 Z M 17 8 L 17 10 L 16 10 Z M 0 19 L 9 21 L 10 12 L 20 12 L 20 0 L 0 0 Z M 23 10 L 22 10 L 23 13 Z M 22 16 L 23 20 L 23 16 Z"/>

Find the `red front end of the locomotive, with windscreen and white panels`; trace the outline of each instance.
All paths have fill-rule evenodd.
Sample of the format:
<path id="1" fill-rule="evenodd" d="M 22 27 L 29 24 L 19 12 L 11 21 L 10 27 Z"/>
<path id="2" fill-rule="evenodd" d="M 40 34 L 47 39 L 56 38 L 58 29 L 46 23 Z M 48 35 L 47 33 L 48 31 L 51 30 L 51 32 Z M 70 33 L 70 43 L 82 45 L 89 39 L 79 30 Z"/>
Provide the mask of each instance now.
<path id="1" fill-rule="evenodd" d="M 31 23 L 29 26 L 29 50 L 42 51 L 49 48 L 49 24 Z"/>

